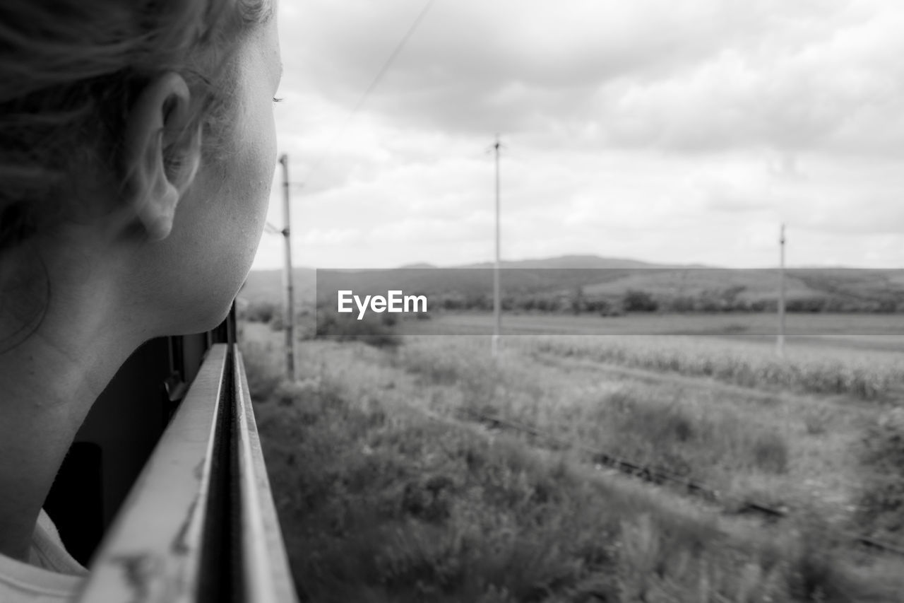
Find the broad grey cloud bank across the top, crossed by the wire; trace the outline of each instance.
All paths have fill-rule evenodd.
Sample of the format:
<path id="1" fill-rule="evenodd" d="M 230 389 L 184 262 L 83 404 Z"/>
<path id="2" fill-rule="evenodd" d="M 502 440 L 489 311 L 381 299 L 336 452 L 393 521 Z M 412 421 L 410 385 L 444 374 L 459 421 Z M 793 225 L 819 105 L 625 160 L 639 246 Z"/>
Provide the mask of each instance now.
<path id="1" fill-rule="evenodd" d="M 413 7 L 312 6 L 287 52 L 350 107 Z M 617 147 L 900 150 L 902 27 L 892 3 L 438 3 L 367 112 L 464 134 L 590 122 Z"/>

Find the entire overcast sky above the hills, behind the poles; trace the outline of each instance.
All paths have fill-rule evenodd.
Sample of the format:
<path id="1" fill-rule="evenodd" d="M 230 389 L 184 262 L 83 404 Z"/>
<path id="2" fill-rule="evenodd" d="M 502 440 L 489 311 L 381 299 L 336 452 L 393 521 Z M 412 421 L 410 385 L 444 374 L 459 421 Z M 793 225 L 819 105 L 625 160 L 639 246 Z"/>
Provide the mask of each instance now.
<path id="1" fill-rule="evenodd" d="M 499 133 L 504 259 L 904 266 L 904 3 L 435 0 L 349 119 L 427 4 L 281 3 L 296 265 L 491 260 Z"/>

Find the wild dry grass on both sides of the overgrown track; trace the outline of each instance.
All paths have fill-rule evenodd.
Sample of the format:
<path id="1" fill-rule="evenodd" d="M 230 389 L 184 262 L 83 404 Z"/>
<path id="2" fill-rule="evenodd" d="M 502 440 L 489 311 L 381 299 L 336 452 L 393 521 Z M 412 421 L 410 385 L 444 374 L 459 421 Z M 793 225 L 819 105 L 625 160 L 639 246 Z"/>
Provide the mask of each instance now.
<path id="1" fill-rule="evenodd" d="M 818 502 L 805 478 L 842 492 L 825 472 L 850 485 L 846 451 L 832 450 L 859 436 L 872 405 L 798 409 L 701 391 L 551 366 L 523 349 L 494 365 L 485 339 L 414 338 L 391 355 L 306 343 L 301 384 L 256 408 L 299 591 L 312 601 L 898 600 L 893 567 L 852 565 L 818 526 L 739 528 L 579 455 L 410 407 L 492 410 L 782 503 L 788 493 Z"/>

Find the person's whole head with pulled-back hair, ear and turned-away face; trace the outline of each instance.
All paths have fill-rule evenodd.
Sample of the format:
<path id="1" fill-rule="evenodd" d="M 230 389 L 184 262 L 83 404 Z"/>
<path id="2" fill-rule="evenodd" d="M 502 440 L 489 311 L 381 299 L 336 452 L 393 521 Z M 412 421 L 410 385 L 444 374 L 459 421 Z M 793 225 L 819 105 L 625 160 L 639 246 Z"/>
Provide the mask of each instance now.
<path id="1" fill-rule="evenodd" d="M 0 4 L 0 340 L 88 293 L 144 337 L 221 321 L 276 164 L 275 2 Z"/>

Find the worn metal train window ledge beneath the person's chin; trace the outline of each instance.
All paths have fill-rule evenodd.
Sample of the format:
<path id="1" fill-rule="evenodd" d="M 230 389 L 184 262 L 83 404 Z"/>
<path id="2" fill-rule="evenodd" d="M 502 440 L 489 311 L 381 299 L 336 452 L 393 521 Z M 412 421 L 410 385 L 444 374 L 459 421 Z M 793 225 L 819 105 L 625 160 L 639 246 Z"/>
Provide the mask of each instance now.
<path id="1" fill-rule="evenodd" d="M 297 601 L 240 352 L 214 344 L 78 600 Z"/>

